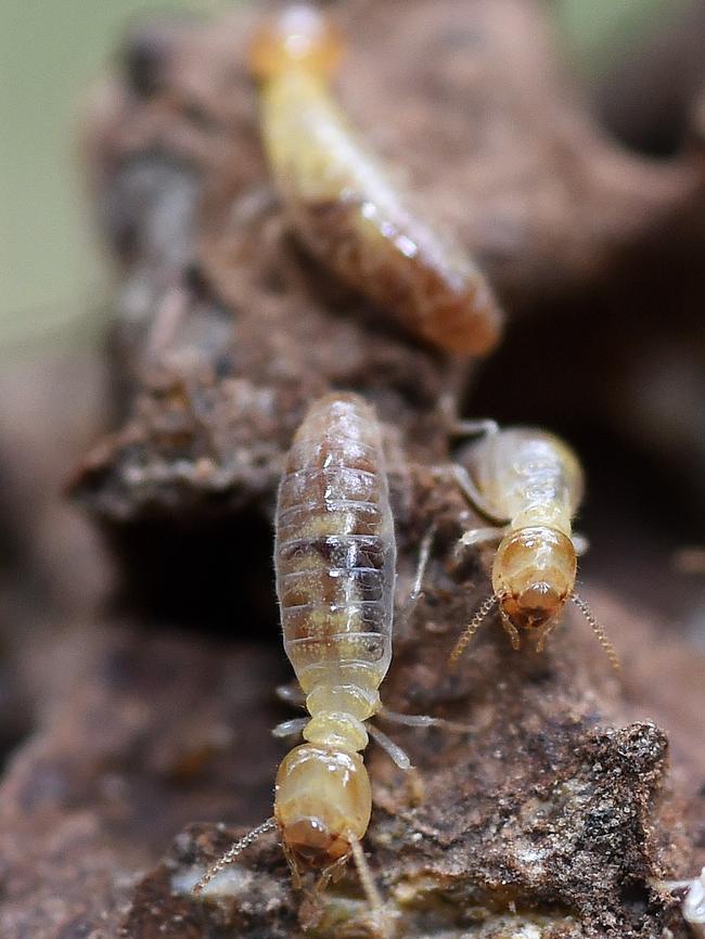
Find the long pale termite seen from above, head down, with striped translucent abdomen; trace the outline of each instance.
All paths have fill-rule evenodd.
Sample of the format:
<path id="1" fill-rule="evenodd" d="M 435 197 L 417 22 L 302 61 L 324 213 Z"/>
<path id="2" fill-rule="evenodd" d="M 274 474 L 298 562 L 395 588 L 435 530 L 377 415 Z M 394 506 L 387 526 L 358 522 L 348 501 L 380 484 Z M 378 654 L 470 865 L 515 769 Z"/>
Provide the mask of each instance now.
<path id="1" fill-rule="evenodd" d="M 354 394 L 315 402 L 297 430 L 279 488 L 274 567 L 284 649 L 309 718 L 287 721 L 305 744 L 282 761 L 274 814 L 238 841 L 196 891 L 264 832 L 278 829 L 295 887 L 318 872 L 318 888 L 352 857 L 370 905 L 382 902 L 361 848 L 372 797 L 362 750 L 370 735 L 402 769 L 402 750 L 367 721 L 466 730 L 441 719 L 394 715 L 379 689 L 392 659 L 396 541 L 382 433 Z"/>

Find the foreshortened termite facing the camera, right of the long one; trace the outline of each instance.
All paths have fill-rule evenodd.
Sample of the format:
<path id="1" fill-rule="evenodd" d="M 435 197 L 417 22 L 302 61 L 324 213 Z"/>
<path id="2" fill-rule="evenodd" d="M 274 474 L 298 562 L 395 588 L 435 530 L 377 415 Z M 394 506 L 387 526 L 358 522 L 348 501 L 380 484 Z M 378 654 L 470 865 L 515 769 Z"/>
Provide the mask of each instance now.
<path id="1" fill-rule="evenodd" d="M 484 430 L 454 465 L 463 492 L 491 524 L 466 531 L 461 545 L 499 542 L 491 567 L 492 594 L 482 604 L 451 653 L 457 663 L 497 604 L 512 646 L 522 633 L 536 636 L 542 651 L 561 621 L 565 604 L 582 612 L 615 669 L 617 653 L 587 603 L 575 591 L 578 537 L 573 518 L 584 492 L 574 451 L 552 434 L 534 427 L 500 429 L 493 422 L 471 424 Z"/>

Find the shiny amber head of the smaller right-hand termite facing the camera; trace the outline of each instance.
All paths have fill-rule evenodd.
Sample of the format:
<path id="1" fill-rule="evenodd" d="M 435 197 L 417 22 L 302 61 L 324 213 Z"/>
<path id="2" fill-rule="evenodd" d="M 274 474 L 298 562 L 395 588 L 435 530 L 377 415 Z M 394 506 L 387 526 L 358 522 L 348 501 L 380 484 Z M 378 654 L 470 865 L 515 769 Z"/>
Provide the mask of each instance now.
<path id="1" fill-rule="evenodd" d="M 577 561 L 571 539 L 547 526 L 505 536 L 492 565 L 492 589 L 502 619 L 518 630 L 554 622 L 575 586 Z"/>

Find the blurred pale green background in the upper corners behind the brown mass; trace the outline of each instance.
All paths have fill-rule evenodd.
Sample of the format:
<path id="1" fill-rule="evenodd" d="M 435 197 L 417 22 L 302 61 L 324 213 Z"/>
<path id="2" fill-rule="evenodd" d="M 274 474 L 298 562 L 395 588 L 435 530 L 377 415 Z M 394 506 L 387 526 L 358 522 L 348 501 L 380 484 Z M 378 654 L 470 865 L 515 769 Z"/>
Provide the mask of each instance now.
<path id="1" fill-rule="evenodd" d="M 681 0 L 554 0 L 566 56 L 588 86 Z M 107 274 L 91 237 L 79 121 L 130 18 L 226 2 L 5 0 L 0 7 L 0 355 L 92 335 Z"/>

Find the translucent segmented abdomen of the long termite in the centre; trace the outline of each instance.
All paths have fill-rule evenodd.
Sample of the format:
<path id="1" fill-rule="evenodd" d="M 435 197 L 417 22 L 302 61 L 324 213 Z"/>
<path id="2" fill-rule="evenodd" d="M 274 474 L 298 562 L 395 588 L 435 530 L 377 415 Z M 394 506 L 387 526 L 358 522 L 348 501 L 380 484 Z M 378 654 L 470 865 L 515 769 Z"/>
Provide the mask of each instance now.
<path id="1" fill-rule="evenodd" d="M 380 426 L 357 395 L 313 403 L 279 489 L 284 648 L 305 692 L 375 690 L 392 657 L 396 546 Z"/>

